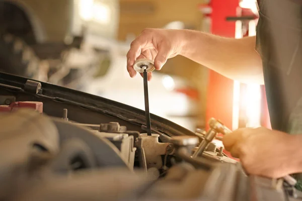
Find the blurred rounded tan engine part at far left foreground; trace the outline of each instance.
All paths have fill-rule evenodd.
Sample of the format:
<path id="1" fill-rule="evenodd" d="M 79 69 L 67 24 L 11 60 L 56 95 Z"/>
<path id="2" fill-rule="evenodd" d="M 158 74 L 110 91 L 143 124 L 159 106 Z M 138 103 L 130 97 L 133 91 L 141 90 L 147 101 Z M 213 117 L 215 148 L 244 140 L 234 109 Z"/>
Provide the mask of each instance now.
<path id="1" fill-rule="evenodd" d="M 39 126 L 37 126 L 39 125 Z M 46 116 L 31 109 L 22 109 L 7 115 L 0 114 L 1 170 L 0 199 L 12 194 L 18 183 L 27 182 L 24 175 L 35 166 L 34 156 L 40 160 L 43 153 L 54 156 L 59 152 L 59 135 L 55 125 Z M 39 160 L 39 161 L 40 161 Z"/>

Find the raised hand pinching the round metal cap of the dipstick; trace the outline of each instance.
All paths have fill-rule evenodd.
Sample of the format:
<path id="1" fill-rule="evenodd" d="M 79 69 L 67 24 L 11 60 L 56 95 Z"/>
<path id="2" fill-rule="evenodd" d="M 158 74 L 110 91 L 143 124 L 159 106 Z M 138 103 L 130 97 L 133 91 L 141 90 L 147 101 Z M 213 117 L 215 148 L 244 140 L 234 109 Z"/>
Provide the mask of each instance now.
<path id="1" fill-rule="evenodd" d="M 167 59 L 180 53 L 183 39 L 181 30 L 144 29 L 131 43 L 127 53 L 127 70 L 130 77 L 136 75 L 133 64 L 137 59 L 147 58 L 154 60 L 155 68 L 160 70 Z M 152 73 L 148 74 L 148 80 Z"/>

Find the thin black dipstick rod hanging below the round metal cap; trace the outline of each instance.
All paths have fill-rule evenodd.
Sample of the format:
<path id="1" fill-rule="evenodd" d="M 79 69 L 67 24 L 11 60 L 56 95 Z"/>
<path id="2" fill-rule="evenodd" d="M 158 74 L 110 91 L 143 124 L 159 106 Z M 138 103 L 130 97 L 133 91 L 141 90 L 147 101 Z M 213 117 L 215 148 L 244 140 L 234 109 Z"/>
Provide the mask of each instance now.
<path id="1" fill-rule="evenodd" d="M 151 134 L 150 111 L 149 111 L 148 73 L 146 71 L 147 66 L 141 65 L 140 67 L 143 69 L 143 93 L 144 93 L 144 103 L 145 103 L 147 135 L 151 136 L 152 134 Z"/>

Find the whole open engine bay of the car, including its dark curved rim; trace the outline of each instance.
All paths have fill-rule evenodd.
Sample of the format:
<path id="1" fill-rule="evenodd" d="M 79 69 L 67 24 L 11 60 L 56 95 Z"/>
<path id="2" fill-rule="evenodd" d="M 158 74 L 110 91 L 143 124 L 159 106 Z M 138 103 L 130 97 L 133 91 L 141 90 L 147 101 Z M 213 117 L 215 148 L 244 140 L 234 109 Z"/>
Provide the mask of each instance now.
<path id="1" fill-rule="evenodd" d="M 0 199 L 301 199 L 284 179 L 246 175 L 212 142 L 219 132 L 208 138 L 212 131 L 150 114 L 147 135 L 144 118 L 109 99 L 0 73 Z"/>

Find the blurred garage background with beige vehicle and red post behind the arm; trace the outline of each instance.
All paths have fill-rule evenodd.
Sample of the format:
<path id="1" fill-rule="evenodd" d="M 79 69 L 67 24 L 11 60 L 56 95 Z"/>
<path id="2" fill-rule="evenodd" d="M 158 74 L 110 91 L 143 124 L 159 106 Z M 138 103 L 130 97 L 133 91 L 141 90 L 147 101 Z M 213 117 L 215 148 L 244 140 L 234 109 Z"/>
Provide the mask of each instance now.
<path id="1" fill-rule="evenodd" d="M 256 34 L 255 0 L 1 0 L 0 70 L 144 110 L 126 53 L 144 28 Z M 177 56 L 149 82 L 150 112 L 187 129 L 209 117 L 230 128 L 268 124 L 263 86 L 229 80 Z"/>

